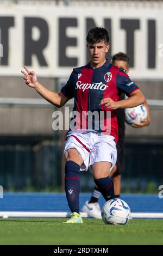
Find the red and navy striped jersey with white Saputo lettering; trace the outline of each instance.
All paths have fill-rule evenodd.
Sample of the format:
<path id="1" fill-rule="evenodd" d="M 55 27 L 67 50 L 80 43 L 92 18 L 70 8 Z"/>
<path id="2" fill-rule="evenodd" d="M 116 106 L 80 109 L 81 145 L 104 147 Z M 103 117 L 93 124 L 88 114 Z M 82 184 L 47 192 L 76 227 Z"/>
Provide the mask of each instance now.
<path id="1" fill-rule="evenodd" d="M 130 96 L 137 89 L 139 88 L 130 80 L 125 70 L 117 68 L 106 60 L 100 68 L 93 69 L 90 63 L 80 68 L 74 68 L 66 85 L 62 87 L 61 92 L 70 99 L 74 97 L 73 111 L 79 113 L 79 119 L 85 119 L 84 130 L 90 130 L 87 112 L 103 112 L 103 124 L 105 125 L 108 118 L 106 113 L 109 111 L 110 132 L 107 133 L 103 128 L 99 128 L 97 131 L 106 132 L 105 134 L 114 136 L 117 143 L 118 125 L 116 111 L 106 108 L 104 104 L 100 105 L 100 102 L 106 97 L 118 101 L 121 93 Z M 75 129 L 83 129 L 82 122 L 78 122 L 79 120 L 77 119 Z M 80 125 L 77 125 L 79 123 Z M 70 130 L 72 130 L 71 127 Z M 91 130 L 96 130 L 95 124 Z"/>

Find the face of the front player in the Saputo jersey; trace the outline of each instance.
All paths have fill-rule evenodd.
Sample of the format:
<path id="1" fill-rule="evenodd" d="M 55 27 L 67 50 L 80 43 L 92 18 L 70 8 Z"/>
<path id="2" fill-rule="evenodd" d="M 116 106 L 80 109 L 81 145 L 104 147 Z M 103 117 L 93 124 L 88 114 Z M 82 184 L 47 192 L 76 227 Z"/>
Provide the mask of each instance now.
<path id="1" fill-rule="evenodd" d="M 99 68 L 102 66 L 106 59 L 105 54 L 108 52 L 110 46 L 105 44 L 104 40 L 98 44 L 87 44 L 87 48 L 90 53 L 90 60 L 92 68 Z"/>

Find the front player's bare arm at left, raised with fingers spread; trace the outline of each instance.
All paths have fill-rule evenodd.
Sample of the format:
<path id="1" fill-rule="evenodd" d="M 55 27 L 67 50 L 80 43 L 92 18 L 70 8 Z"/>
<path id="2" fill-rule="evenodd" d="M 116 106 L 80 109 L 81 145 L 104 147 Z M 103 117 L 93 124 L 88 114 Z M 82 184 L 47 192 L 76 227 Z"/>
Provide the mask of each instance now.
<path id="1" fill-rule="evenodd" d="M 54 106 L 62 107 L 65 103 L 70 100 L 69 97 L 63 93 L 55 93 L 52 90 L 47 89 L 41 83 L 37 81 L 37 76 L 34 71 L 30 71 L 26 66 L 24 66 L 25 71 L 21 71 L 24 75 L 24 80 L 29 87 L 32 87 L 39 93 L 45 100 L 52 103 Z"/>

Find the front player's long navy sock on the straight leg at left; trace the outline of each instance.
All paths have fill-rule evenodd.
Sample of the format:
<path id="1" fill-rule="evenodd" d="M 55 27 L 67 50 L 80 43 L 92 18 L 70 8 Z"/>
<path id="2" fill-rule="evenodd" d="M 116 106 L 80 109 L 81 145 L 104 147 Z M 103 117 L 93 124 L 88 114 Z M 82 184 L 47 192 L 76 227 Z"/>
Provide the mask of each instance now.
<path id="1" fill-rule="evenodd" d="M 73 161 L 67 161 L 65 166 L 65 192 L 68 206 L 72 212 L 76 211 L 79 214 L 79 164 Z"/>

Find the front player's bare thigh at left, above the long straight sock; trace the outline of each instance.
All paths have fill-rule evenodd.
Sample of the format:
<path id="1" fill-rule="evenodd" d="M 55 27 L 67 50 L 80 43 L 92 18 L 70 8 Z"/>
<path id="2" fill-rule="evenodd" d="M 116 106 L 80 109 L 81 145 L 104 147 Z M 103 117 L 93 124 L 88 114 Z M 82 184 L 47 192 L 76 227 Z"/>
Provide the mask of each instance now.
<path id="1" fill-rule="evenodd" d="M 67 149 L 65 152 L 65 158 L 66 158 L 66 161 L 76 162 L 77 164 L 79 164 L 79 166 L 81 166 L 83 163 L 82 156 L 80 155 L 78 150 L 75 148 Z"/>

